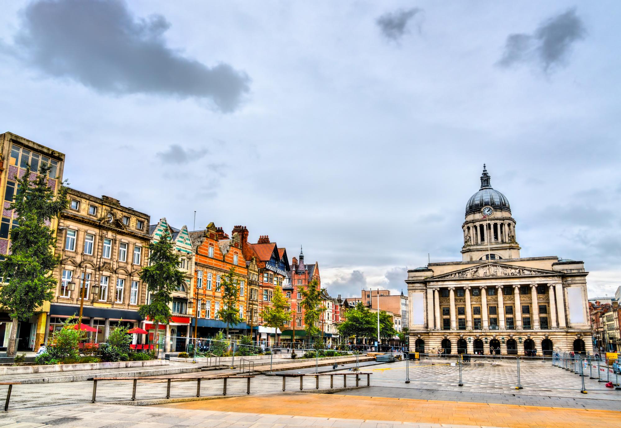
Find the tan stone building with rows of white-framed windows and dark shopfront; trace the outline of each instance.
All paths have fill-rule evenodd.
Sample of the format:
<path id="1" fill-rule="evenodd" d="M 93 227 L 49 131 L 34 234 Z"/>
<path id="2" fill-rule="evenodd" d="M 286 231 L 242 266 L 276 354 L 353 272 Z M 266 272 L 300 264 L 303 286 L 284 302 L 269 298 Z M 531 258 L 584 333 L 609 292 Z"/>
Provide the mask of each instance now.
<path id="1" fill-rule="evenodd" d="M 84 287 L 82 322 L 96 327 L 95 339 L 102 342 L 111 325 L 140 321 L 138 306 L 145 303 L 147 291 L 138 275 L 148 262 L 149 216 L 117 199 L 75 189 L 68 199 L 70 206 L 58 221 L 55 251 L 61 263 L 53 271 L 58 286 L 46 336 L 67 316 L 79 314 Z"/>

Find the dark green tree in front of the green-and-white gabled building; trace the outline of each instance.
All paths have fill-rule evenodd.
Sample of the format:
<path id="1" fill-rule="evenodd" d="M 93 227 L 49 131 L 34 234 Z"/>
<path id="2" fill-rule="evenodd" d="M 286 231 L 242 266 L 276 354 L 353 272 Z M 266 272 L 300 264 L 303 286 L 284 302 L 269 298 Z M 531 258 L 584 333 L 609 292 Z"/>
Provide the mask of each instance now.
<path id="1" fill-rule="evenodd" d="M 142 283 L 147 284 L 147 305 L 140 305 L 138 313 L 150 319 L 155 327 L 156 344 L 160 342 L 160 324 L 172 318 L 170 302 L 173 291 L 181 287 L 184 274 L 178 269 L 179 257 L 173 252 L 173 241 L 168 230 L 154 243 L 149 244 L 149 264 L 140 270 Z"/>

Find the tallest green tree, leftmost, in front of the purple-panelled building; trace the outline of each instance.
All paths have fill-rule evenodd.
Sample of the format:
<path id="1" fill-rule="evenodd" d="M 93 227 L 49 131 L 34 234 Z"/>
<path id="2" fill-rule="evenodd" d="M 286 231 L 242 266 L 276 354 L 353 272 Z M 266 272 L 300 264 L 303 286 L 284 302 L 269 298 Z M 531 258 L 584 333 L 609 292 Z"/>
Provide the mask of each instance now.
<path id="1" fill-rule="evenodd" d="M 0 305 L 9 313 L 13 323 L 7 355 L 16 352 L 17 323 L 29 319 L 44 301 L 52 300 L 58 280 L 50 272 L 60 264 L 55 256 L 55 231 L 50 228 L 53 218 L 68 206 L 64 183 L 58 194 L 47 185 L 50 167 L 43 164 L 40 174 L 31 179 L 30 166 L 17 179 L 17 195 L 11 209 L 17 214 L 19 226 L 11 230 L 11 253 L 0 262 L 0 276 L 7 282 L 0 289 Z"/>

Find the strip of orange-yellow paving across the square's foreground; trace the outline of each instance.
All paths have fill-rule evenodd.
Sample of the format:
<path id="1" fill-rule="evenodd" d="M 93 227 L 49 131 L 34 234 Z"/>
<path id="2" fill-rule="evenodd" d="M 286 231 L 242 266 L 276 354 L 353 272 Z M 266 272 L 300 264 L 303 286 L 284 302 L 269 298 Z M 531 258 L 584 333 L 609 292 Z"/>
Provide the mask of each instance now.
<path id="1" fill-rule="evenodd" d="M 286 393 L 163 404 L 166 407 L 419 424 L 535 428 L 621 427 L 621 412 L 409 398 Z"/>

